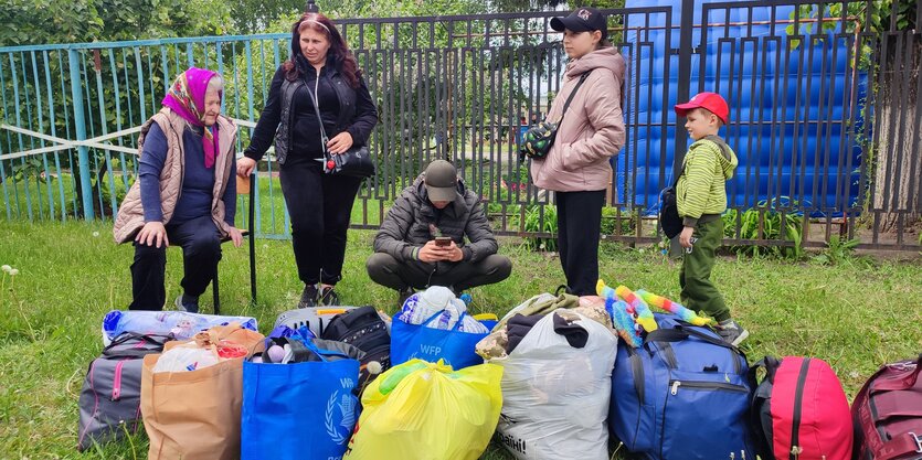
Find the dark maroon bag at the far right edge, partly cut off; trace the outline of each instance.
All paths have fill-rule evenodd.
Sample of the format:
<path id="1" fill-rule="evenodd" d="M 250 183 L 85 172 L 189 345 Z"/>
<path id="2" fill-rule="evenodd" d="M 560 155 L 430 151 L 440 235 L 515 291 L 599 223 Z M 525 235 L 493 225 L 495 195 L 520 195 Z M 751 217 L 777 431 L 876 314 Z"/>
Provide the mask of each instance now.
<path id="1" fill-rule="evenodd" d="M 922 458 L 922 354 L 881 367 L 851 403 L 855 460 Z"/>

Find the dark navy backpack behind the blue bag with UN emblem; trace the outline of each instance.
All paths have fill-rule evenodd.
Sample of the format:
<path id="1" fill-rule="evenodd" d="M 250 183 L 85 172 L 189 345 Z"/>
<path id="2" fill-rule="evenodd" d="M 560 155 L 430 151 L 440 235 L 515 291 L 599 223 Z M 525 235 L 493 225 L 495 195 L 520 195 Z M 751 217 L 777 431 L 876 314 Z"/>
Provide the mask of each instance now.
<path id="1" fill-rule="evenodd" d="M 365 353 L 361 359 L 359 388 L 374 379 L 368 372 L 368 363 L 381 363 L 381 372 L 391 367 L 391 334 L 374 307 L 358 307 L 337 314 L 324 328 L 320 339 L 345 342 Z"/>

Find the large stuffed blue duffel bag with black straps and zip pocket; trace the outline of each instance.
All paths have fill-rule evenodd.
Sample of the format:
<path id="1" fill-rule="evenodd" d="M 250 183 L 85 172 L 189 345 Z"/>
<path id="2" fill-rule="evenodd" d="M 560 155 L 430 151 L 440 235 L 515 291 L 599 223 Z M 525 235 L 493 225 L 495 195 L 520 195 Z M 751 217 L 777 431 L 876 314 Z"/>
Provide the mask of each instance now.
<path id="1" fill-rule="evenodd" d="M 745 355 L 708 328 L 656 315 L 634 349 L 618 341 L 608 428 L 649 460 L 752 459 Z"/>

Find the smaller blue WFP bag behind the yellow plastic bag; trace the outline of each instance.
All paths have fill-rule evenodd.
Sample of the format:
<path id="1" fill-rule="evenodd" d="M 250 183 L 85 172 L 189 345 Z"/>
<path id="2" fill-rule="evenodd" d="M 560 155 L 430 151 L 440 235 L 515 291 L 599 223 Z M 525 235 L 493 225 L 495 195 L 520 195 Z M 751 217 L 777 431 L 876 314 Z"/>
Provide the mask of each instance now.
<path id="1" fill-rule="evenodd" d="M 455 371 L 467 366 L 484 364 L 484 359 L 474 352 L 474 346 L 489 332 L 473 333 L 459 331 L 464 312 L 458 317 L 455 327 L 445 329 L 427 328 L 430 321 L 442 314 L 442 311 L 433 314 L 422 324 L 409 324 L 394 314 L 391 323 L 391 366 L 405 363 L 413 359 L 435 363 L 445 360 Z"/>

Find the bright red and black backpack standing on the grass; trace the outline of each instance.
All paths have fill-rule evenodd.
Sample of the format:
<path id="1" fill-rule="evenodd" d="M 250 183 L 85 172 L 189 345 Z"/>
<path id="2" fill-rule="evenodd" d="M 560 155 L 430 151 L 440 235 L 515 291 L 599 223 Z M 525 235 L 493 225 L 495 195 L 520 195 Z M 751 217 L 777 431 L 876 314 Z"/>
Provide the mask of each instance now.
<path id="1" fill-rule="evenodd" d="M 763 459 L 848 460 L 851 417 L 842 386 L 825 361 L 765 356 L 750 370 L 765 378 L 752 400 L 752 422 Z"/>

